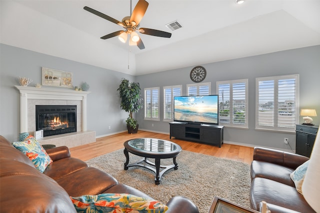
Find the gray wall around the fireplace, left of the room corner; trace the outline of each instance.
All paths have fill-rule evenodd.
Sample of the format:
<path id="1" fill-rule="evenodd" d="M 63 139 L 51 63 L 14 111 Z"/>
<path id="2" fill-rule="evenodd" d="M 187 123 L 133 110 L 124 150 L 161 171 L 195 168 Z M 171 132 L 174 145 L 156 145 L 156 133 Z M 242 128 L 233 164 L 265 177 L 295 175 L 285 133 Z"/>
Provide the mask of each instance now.
<path id="1" fill-rule="evenodd" d="M 5 44 L 0 44 L 0 50 L 0 134 L 8 140 L 16 140 L 20 131 L 20 93 L 14 87 L 19 85 L 17 78 L 31 78 L 30 86 L 41 83 L 41 67 L 72 72 L 73 86 L 80 86 L 84 81 L 90 85 L 87 129 L 96 131 L 96 136 L 126 129 L 128 114 L 119 107 L 116 89 L 121 78 L 131 81 L 134 76 Z M 110 130 L 108 126 L 111 126 Z"/>

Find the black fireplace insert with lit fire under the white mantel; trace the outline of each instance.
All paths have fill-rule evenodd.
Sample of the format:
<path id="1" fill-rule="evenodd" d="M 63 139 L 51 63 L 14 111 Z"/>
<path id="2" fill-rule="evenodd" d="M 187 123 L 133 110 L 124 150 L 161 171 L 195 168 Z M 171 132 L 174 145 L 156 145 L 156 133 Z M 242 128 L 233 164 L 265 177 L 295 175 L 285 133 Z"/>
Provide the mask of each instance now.
<path id="1" fill-rule="evenodd" d="M 35 105 L 35 129 L 44 137 L 76 132 L 76 105 Z"/>

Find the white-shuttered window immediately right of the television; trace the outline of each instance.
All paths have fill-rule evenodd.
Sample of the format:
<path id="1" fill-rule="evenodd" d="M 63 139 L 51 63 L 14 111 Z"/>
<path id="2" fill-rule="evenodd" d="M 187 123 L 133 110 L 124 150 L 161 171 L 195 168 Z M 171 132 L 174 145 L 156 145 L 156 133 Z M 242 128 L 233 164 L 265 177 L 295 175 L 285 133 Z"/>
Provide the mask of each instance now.
<path id="1" fill-rule="evenodd" d="M 219 95 L 219 124 L 248 128 L 247 87 L 248 79 L 216 82 Z"/>

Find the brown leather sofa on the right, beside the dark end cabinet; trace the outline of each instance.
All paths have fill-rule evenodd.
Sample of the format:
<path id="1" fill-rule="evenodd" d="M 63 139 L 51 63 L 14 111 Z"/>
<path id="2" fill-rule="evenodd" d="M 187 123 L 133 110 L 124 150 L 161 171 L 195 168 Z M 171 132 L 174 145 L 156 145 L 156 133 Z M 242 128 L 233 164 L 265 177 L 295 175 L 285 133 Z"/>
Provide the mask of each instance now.
<path id="1" fill-rule="evenodd" d="M 250 168 L 251 208 L 259 211 L 264 201 L 271 213 L 315 213 L 290 178 L 290 173 L 307 160 L 301 155 L 255 147 Z"/>

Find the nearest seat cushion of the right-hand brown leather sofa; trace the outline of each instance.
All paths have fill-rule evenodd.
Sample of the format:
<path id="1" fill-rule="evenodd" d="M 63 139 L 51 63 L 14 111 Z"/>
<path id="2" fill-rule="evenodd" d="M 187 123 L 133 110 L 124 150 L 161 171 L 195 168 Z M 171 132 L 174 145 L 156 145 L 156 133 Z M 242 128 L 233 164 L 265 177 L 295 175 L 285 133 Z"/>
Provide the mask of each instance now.
<path id="1" fill-rule="evenodd" d="M 295 187 L 265 178 L 254 178 L 250 190 L 251 208 L 258 210 L 262 201 L 301 213 L 315 213 Z"/>

